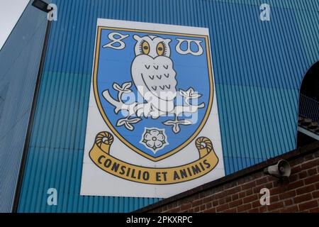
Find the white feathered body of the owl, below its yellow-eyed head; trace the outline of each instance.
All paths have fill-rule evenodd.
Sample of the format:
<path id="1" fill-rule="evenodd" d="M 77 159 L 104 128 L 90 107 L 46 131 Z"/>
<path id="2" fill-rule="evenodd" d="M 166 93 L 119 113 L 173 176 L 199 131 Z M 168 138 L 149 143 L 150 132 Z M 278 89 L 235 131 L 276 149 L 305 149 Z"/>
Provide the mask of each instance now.
<path id="1" fill-rule="evenodd" d="M 132 77 L 135 86 L 142 86 L 143 89 L 151 92 L 159 99 L 168 100 L 168 96 L 170 99 L 174 99 L 177 93 L 177 80 L 175 79 L 176 72 L 172 60 L 163 56 L 155 59 L 147 55 L 140 57 L 143 59 L 139 60 L 139 63 L 133 62 L 132 65 Z M 138 87 L 139 92 L 140 89 Z M 145 91 L 143 93 L 145 94 Z"/>

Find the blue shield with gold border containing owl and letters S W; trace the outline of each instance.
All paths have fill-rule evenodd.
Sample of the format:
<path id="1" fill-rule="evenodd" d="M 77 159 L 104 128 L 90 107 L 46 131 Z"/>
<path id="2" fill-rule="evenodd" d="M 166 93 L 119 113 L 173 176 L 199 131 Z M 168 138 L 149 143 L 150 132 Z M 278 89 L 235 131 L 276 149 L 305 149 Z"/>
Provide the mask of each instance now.
<path id="1" fill-rule="evenodd" d="M 163 160 L 191 143 L 211 114 L 208 36 L 99 27 L 93 84 L 115 138 Z"/>

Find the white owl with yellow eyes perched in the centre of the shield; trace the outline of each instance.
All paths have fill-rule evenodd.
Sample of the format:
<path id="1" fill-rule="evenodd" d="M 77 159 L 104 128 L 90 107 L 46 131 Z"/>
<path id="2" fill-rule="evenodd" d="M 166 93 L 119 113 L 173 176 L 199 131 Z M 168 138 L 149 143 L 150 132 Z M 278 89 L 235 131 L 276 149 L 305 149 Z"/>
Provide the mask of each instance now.
<path id="1" fill-rule="evenodd" d="M 135 87 L 147 101 L 138 113 L 150 113 L 152 118 L 171 113 L 177 96 L 176 72 L 170 58 L 171 40 L 155 35 L 133 38 L 137 43 L 131 74 Z"/>

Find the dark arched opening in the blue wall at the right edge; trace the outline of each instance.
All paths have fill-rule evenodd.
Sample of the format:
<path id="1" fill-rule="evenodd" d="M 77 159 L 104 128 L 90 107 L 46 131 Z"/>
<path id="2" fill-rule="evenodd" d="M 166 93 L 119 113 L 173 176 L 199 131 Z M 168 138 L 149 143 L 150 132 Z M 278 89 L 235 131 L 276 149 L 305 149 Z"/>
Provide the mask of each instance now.
<path id="1" fill-rule="evenodd" d="M 319 62 L 303 78 L 299 97 L 297 147 L 319 140 Z"/>

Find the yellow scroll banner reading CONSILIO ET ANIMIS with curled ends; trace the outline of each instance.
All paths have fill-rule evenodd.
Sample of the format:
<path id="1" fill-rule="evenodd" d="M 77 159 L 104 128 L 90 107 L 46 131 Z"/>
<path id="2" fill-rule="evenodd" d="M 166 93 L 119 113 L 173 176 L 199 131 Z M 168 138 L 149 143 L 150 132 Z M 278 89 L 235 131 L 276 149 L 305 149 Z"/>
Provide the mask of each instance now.
<path id="1" fill-rule="evenodd" d="M 96 140 L 89 156 L 91 160 L 105 172 L 133 182 L 143 184 L 176 184 L 202 177 L 211 172 L 218 164 L 218 157 L 213 150 L 211 140 L 205 137 L 196 139 L 199 159 L 186 165 L 153 168 L 132 165 L 110 155 L 113 135 L 102 132 Z"/>

